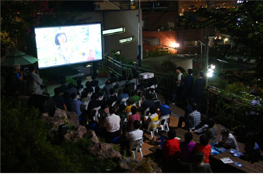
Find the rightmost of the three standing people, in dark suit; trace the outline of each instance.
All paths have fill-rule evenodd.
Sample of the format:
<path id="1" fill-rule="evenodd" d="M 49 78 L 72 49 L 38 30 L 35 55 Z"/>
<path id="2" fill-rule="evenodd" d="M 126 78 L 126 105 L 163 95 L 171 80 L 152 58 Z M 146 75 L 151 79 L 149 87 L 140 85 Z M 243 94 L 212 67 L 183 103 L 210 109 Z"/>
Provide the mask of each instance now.
<path id="1" fill-rule="evenodd" d="M 202 109 L 202 103 L 204 98 L 204 87 L 207 84 L 207 80 L 204 78 L 205 74 L 203 72 L 199 72 L 198 79 L 194 81 L 193 84 L 193 97 L 194 101 L 197 102 L 197 110 L 200 112 Z"/>

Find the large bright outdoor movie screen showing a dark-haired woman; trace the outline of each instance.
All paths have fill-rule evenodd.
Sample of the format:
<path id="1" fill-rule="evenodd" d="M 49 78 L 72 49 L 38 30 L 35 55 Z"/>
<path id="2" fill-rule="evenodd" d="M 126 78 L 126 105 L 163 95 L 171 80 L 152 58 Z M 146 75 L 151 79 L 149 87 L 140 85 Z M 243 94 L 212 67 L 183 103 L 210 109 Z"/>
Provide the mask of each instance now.
<path id="1" fill-rule="evenodd" d="M 36 27 L 38 67 L 102 60 L 101 23 Z"/>

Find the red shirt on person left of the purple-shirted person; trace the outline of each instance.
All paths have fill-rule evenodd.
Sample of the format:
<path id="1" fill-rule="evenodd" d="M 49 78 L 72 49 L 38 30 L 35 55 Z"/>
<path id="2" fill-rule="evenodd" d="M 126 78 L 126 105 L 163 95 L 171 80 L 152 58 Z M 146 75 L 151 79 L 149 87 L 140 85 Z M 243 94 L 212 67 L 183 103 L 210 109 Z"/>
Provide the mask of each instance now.
<path id="1" fill-rule="evenodd" d="M 162 148 L 166 160 L 176 160 L 180 156 L 180 144 L 177 138 L 165 140 Z"/>

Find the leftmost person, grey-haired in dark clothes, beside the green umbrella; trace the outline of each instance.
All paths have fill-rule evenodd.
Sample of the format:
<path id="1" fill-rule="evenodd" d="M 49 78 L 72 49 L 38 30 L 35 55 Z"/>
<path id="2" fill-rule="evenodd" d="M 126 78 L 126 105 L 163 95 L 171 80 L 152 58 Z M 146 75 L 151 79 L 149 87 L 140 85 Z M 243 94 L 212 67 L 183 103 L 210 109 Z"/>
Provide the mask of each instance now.
<path id="1" fill-rule="evenodd" d="M 14 95 L 21 92 L 23 73 L 20 71 L 20 65 L 14 64 L 13 70 L 5 78 L 4 90 L 8 95 Z"/>

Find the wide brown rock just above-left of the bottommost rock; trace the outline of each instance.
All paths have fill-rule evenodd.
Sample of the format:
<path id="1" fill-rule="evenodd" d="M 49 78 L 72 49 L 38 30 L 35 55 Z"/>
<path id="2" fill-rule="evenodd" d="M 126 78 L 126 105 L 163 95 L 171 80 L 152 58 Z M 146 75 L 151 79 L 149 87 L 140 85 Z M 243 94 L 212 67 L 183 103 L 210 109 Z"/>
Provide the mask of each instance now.
<path id="1" fill-rule="evenodd" d="M 96 159 L 100 158 L 121 158 L 121 154 L 113 150 L 112 146 L 108 143 L 94 143 L 88 148 L 88 152 Z"/>

